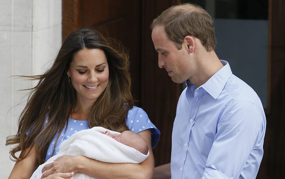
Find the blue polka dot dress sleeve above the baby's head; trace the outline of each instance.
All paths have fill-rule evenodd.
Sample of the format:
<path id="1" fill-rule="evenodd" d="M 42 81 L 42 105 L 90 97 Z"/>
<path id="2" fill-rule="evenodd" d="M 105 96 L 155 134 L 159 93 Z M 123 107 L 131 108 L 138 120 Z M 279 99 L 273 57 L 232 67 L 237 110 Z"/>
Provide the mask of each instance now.
<path id="1" fill-rule="evenodd" d="M 128 116 L 126 118 L 126 124 L 130 131 L 139 133 L 146 129 L 151 130 L 151 146 L 152 149 L 157 145 L 160 138 L 160 131 L 152 124 L 146 112 L 139 108 L 133 107 L 128 111 Z"/>

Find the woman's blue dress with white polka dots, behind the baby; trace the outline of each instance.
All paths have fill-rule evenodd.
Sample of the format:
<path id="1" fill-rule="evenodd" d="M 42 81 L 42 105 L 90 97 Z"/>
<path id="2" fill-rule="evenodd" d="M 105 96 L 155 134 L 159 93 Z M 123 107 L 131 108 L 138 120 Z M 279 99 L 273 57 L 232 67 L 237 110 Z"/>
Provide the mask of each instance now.
<path id="1" fill-rule="evenodd" d="M 46 120 L 46 124 L 48 123 L 48 119 Z M 141 131 L 144 131 L 146 129 L 151 130 L 151 145 L 152 149 L 156 146 L 158 143 L 158 140 L 160 138 L 160 131 L 152 124 L 152 122 L 149 120 L 146 112 L 139 108 L 134 106 L 132 109 L 128 111 L 128 116 L 126 118 L 126 124 L 129 127 L 129 129 L 132 132 L 139 133 Z M 46 160 L 48 160 L 53 155 L 58 154 L 59 152 L 59 146 L 62 143 L 62 141 L 70 138 L 70 136 L 80 130 L 88 129 L 89 124 L 87 120 L 74 120 L 69 118 L 68 119 L 68 125 L 64 127 L 62 130 L 62 133 L 60 134 L 60 137 L 58 138 L 58 141 L 56 143 L 56 149 L 54 153 L 52 154 L 57 134 L 52 139 L 52 142 L 50 143 L 50 146 L 48 147 L 47 153 L 46 153 Z"/>

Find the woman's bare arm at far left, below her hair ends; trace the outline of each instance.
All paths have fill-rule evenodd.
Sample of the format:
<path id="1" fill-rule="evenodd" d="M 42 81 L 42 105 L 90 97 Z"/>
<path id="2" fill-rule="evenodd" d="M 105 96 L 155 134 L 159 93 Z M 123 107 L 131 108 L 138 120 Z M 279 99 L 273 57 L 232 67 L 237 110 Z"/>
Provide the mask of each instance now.
<path id="1" fill-rule="evenodd" d="M 28 147 L 25 151 L 22 151 L 20 156 L 25 156 L 26 154 L 27 156 L 23 160 L 15 163 L 8 179 L 25 179 L 32 176 L 33 172 L 38 167 L 34 145 Z"/>

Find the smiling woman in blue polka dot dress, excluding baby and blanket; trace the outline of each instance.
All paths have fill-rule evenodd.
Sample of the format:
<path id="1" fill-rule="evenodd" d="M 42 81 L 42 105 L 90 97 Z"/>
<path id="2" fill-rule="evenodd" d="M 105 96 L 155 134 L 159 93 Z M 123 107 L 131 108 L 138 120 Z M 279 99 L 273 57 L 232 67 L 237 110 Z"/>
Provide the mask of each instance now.
<path id="1" fill-rule="evenodd" d="M 10 152 L 16 163 L 9 178 L 30 178 L 56 155 L 63 140 L 93 126 L 138 133 L 148 143 L 149 156 L 130 164 L 64 155 L 44 166 L 42 178 L 70 178 L 77 172 L 94 178 L 152 177 L 152 148 L 160 132 L 143 109 L 133 106 L 129 61 L 123 51 L 111 47 L 97 31 L 80 29 L 66 38 L 46 73 L 28 77 L 39 82 L 20 115 L 17 135 L 6 141 L 6 145 L 19 144 Z"/>

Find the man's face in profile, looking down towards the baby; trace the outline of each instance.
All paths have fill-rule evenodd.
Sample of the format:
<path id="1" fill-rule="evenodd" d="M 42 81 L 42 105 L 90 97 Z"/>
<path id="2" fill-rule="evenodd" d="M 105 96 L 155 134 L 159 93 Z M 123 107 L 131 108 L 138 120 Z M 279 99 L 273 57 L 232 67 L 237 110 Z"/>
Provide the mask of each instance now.
<path id="1" fill-rule="evenodd" d="M 182 44 L 182 49 L 178 50 L 176 44 L 170 41 L 164 31 L 163 26 L 156 26 L 152 30 L 152 41 L 154 48 L 158 52 L 158 66 L 165 68 L 172 81 L 183 83 L 189 79 L 188 51 Z"/>

